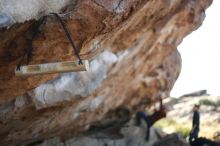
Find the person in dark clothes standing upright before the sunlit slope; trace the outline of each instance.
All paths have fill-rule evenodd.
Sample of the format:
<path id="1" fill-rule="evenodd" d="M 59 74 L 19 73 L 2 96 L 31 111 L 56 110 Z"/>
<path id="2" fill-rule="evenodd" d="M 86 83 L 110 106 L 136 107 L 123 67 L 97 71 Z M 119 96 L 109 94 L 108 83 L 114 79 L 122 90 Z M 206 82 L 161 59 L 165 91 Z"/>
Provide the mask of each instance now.
<path id="1" fill-rule="evenodd" d="M 193 121 L 192 121 L 192 130 L 189 135 L 189 142 L 192 145 L 192 142 L 198 138 L 199 135 L 199 105 L 196 104 L 193 107 Z"/>

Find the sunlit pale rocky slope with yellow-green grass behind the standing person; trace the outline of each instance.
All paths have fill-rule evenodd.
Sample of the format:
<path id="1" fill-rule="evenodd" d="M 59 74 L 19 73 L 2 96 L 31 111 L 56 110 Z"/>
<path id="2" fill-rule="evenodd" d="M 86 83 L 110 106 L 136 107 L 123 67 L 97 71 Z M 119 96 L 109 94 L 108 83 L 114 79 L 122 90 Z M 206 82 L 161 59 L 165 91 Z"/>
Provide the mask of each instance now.
<path id="1" fill-rule="evenodd" d="M 169 98 L 167 118 L 159 121 L 157 126 L 166 133 L 180 132 L 187 136 L 192 127 L 192 108 L 200 104 L 200 137 L 220 141 L 220 97 L 211 95 Z"/>

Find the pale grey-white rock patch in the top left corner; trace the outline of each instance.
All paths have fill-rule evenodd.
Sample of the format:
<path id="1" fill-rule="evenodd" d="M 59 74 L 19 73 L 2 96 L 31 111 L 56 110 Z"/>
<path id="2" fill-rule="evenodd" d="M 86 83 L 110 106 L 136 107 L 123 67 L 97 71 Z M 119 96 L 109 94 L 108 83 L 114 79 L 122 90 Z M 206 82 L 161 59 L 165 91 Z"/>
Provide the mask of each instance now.
<path id="1" fill-rule="evenodd" d="M 75 0 L 1 0 L 0 13 L 5 13 L 15 22 L 24 22 L 30 19 L 56 12 Z M 0 17 L 0 22 L 1 22 Z M 1 24 L 1 23 L 0 23 Z"/>

